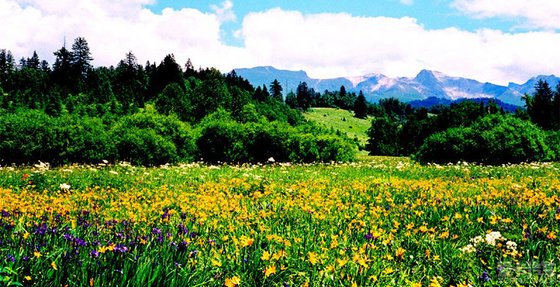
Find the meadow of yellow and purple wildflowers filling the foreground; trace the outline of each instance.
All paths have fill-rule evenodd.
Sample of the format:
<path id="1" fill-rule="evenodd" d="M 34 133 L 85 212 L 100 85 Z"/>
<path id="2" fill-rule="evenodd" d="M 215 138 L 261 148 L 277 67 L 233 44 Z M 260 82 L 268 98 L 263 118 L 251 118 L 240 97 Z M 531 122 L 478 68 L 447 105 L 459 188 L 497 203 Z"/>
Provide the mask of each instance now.
<path id="1" fill-rule="evenodd" d="M 0 286 L 560 286 L 560 165 L 0 168 Z"/>

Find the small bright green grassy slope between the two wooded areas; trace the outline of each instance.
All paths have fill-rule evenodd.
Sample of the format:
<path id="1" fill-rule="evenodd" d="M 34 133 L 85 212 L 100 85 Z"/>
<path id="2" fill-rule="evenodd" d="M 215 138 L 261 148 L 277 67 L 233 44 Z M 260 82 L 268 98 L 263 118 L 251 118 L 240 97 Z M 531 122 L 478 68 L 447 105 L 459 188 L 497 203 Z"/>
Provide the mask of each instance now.
<path id="1" fill-rule="evenodd" d="M 312 108 L 304 115 L 307 120 L 338 130 L 349 138 L 357 138 L 361 145 L 367 143 L 367 130 L 371 126 L 369 119 L 358 119 L 351 111 L 334 108 Z"/>

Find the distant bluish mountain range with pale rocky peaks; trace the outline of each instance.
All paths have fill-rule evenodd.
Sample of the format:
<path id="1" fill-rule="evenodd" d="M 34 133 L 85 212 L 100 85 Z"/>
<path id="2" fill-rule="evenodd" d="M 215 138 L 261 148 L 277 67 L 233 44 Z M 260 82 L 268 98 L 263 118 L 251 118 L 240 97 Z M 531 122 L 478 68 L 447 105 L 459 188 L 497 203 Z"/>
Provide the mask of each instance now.
<path id="1" fill-rule="evenodd" d="M 554 75 L 537 76 L 524 84 L 510 83 L 501 86 L 481 83 L 476 80 L 451 77 L 440 72 L 422 70 L 416 77 L 391 78 L 382 74 L 370 74 L 361 77 L 341 77 L 333 79 L 313 79 L 305 71 L 279 70 L 274 67 L 255 67 L 235 69 L 235 72 L 249 80 L 254 86 L 270 85 L 277 79 L 285 92 L 296 91 L 299 83 L 306 82 L 308 87 L 317 92 L 325 90 L 338 91 L 344 86 L 347 91 L 362 91 L 366 98 L 375 102 L 382 98 L 397 98 L 404 102 L 421 101 L 428 98 L 446 100 L 493 98 L 504 103 L 523 106 L 524 94 L 531 94 L 539 80 L 545 80 L 554 88 L 560 78 Z"/>

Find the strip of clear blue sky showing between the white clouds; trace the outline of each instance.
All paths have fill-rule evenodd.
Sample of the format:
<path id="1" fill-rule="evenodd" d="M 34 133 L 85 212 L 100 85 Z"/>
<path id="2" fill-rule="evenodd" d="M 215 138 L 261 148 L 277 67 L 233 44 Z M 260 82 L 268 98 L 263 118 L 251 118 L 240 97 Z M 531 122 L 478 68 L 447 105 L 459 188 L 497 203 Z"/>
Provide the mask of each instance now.
<path id="1" fill-rule="evenodd" d="M 214 12 L 213 7 L 220 1 L 214 0 L 158 0 L 147 7 L 154 13 L 165 8 L 194 8 L 205 13 Z M 503 32 L 527 30 L 516 27 L 515 19 L 484 18 L 473 19 L 452 6 L 449 0 L 416 0 L 410 3 L 399 0 L 244 0 L 235 1 L 232 8 L 236 20 L 228 21 L 222 26 L 222 40 L 227 44 L 240 46 L 241 39 L 234 36 L 240 29 L 244 16 L 251 12 L 266 11 L 272 8 L 300 11 L 304 14 L 348 13 L 356 17 L 412 17 L 426 29 L 443 29 L 457 27 L 467 31 L 478 29 L 497 29 Z M 559 4 L 560 5 L 560 4 Z"/>

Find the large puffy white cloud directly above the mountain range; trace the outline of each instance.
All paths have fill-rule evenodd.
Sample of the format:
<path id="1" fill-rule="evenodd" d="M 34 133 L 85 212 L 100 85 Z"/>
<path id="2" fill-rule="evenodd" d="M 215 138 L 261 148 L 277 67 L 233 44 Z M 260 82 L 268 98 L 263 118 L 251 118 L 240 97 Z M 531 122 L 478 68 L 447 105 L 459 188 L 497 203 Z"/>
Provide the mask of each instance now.
<path id="1" fill-rule="evenodd" d="M 259 63 L 315 77 L 413 76 L 423 68 L 481 81 L 522 82 L 560 73 L 560 34 L 428 30 L 412 18 L 353 17 L 273 9 L 245 17 L 242 37 Z"/>

